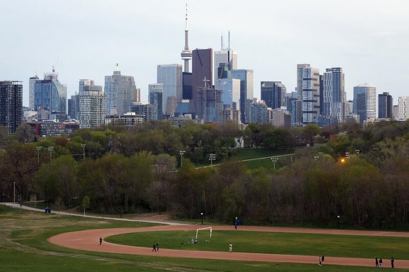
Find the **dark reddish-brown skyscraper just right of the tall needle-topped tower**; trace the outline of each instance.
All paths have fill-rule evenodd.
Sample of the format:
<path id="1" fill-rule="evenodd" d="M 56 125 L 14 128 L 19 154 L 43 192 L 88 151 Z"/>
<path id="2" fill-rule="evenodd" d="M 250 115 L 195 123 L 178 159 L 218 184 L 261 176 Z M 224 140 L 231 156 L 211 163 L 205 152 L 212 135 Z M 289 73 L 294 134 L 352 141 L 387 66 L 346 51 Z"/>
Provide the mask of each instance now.
<path id="1" fill-rule="evenodd" d="M 213 49 L 195 49 L 192 53 L 192 100 L 197 108 L 197 88 L 212 88 Z"/>

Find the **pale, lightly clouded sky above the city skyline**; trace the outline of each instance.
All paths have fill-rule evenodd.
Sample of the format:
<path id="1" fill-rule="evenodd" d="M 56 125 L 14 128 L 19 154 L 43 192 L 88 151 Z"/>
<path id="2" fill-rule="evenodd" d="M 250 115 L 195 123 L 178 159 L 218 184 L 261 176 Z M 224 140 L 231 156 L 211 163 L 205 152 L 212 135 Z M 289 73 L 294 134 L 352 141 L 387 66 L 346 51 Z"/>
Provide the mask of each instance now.
<path id="1" fill-rule="evenodd" d="M 156 65 L 183 64 L 185 3 L 190 50 L 219 50 L 230 30 L 238 68 L 254 70 L 255 97 L 260 81 L 293 91 L 298 63 L 320 73 L 342 67 L 348 100 L 361 83 L 389 91 L 394 104 L 409 95 L 406 0 L 0 0 L 0 80 L 23 81 L 28 106 L 35 73 L 42 78 L 54 65 L 70 97 L 79 79 L 103 86 L 119 63 L 147 101 Z"/>

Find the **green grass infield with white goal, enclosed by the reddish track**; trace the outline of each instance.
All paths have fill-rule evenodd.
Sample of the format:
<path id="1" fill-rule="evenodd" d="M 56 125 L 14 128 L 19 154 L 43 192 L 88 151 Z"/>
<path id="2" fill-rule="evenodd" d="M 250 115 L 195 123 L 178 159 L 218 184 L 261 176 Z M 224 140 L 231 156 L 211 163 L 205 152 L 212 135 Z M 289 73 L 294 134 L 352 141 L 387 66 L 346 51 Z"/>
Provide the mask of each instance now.
<path id="1" fill-rule="evenodd" d="M 235 252 L 384 258 L 409 258 L 409 238 L 305 233 L 272 233 L 253 231 L 199 232 L 198 243 L 191 244 L 195 231 L 144 232 L 105 238 L 112 243 L 151 247 L 155 241 L 163 249 L 228 251 L 233 243 Z M 206 242 L 209 240 L 210 242 Z"/>

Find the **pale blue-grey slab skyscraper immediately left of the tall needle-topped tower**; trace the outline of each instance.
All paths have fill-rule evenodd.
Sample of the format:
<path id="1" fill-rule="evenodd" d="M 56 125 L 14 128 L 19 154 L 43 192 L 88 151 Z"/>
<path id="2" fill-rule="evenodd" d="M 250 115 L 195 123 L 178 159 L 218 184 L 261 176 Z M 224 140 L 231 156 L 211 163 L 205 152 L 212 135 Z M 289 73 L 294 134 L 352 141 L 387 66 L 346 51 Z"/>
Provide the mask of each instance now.
<path id="1" fill-rule="evenodd" d="M 180 64 L 157 65 L 156 83 L 163 84 L 162 105 L 167 105 L 168 97 L 175 96 L 176 101 L 182 100 L 182 66 Z M 163 113 L 166 113 L 166 106 Z"/>

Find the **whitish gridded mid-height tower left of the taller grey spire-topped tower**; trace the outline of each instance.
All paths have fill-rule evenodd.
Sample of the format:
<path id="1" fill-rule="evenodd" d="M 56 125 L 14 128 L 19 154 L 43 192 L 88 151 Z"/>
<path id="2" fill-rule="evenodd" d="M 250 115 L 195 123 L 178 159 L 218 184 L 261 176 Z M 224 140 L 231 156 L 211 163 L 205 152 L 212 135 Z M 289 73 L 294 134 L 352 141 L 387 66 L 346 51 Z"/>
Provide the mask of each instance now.
<path id="1" fill-rule="evenodd" d="M 80 80 L 79 123 L 80 128 L 97 128 L 105 122 L 106 96 L 102 86 L 94 80 Z"/>

